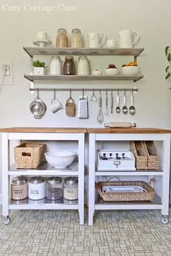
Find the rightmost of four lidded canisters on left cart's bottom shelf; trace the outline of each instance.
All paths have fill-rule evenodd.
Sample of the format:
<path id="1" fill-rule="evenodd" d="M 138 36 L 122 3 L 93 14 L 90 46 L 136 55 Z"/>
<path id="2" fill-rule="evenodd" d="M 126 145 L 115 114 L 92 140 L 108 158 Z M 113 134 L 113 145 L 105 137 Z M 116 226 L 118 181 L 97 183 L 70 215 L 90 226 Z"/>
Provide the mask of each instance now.
<path id="1" fill-rule="evenodd" d="M 67 200 L 78 199 L 78 178 L 77 177 L 64 178 L 64 199 L 67 199 Z"/>

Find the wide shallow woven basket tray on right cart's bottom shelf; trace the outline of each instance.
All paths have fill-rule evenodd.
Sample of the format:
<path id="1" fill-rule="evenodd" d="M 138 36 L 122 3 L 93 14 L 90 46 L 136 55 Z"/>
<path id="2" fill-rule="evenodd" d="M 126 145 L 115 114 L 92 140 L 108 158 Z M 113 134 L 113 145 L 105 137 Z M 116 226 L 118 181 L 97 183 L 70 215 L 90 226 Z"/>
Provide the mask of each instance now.
<path id="1" fill-rule="evenodd" d="M 146 192 L 106 192 L 103 186 L 141 186 Z M 104 201 L 128 202 L 128 201 L 151 201 L 156 193 L 155 190 L 144 181 L 106 181 L 96 183 L 96 189 Z"/>

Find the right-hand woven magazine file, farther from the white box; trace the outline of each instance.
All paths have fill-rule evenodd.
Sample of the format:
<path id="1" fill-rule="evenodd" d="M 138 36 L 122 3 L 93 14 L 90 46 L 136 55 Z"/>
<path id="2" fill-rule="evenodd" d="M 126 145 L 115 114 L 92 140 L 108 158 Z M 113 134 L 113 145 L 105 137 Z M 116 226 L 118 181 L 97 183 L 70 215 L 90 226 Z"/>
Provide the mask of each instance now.
<path id="1" fill-rule="evenodd" d="M 147 154 L 148 170 L 157 170 L 159 168 L 159 157 L 154 141 L 143 141 L 143 146 Z"/>

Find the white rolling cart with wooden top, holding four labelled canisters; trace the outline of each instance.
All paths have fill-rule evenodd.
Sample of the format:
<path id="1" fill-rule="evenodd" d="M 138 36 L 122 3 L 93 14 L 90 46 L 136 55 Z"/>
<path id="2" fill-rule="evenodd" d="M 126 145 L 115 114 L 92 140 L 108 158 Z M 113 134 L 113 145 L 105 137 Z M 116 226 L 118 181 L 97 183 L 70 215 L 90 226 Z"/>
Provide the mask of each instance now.
<path id="1" fill-rule="evenodd" d="M 84 146 L 86 129 L 83 128 L 4 128 L 1 132 L 2 146 L 2 215 L 4 224 L 10 223 L 9 210 L 78 210 L 80 225 L 84 223 Z M 55 170 L 47 163 L 37 169 L 16 169 L 15 165 L 9 166 L 10 141 L 77 141 L 78 162 L 71 168 Z M 78 200 L 62 203 L 38 202 L 30 203 L 29 200 L 11 201 L 9 195 L 10 176 L 77 176 Z"/>

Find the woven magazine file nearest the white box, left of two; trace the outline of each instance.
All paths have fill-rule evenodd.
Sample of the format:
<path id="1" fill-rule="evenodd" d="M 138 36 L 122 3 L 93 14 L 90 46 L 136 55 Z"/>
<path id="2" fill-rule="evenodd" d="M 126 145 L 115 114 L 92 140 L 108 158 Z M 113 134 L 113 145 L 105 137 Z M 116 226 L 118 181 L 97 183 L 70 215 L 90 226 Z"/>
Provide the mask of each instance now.
<path id="1" fill-rule="evenodd" d="M 135 168 L 137 170 L 147 169 L 147 154 L 143 141 L 130 141 L 130 151 L 135 157 Z"/>

